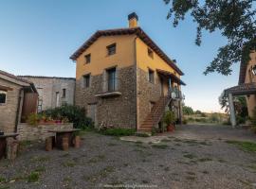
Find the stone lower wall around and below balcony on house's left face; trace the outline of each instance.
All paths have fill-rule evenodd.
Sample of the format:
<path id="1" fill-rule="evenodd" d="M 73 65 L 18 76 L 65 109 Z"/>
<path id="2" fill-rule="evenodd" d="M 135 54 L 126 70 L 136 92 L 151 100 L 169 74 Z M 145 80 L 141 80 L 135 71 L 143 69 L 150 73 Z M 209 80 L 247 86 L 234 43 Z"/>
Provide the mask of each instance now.
<path id="1" fill-rule="evenodd" d="M 103 76 L 91 76 L 89 88 L 82 87 L 82 79 L 76 81 L 76 105 L 88 110 L 90 104 L 96 105 L 97 123 L 113 125 L 119 128 L 136 128 L 136 69 L 135 66 L 126 68 L 117 67 L 118 90 L 121 95 L 96 97 L 103 92 Z"/>

